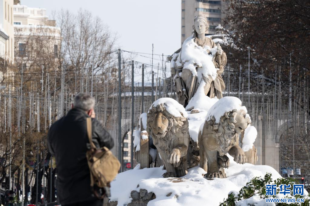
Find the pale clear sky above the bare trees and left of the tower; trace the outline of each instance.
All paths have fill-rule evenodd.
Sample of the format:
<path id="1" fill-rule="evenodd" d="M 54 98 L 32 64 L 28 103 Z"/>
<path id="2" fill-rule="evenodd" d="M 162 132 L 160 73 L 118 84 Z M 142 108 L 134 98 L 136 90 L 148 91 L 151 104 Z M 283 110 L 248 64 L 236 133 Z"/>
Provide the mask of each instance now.
<path id="1" fill-rule="evenodd" d="M 119 48 L 126 51 L 152 53 L 154 44 L 155 54 L 170 55 L 181 47 L 180 0 L 21 0 L 21 4 L 46 8 L 50 18 L 52 11 L 61 8 L 91 11 L 117 33 Z M 149 58 L 136 56 L 135 60 L 150 64 Z"/>

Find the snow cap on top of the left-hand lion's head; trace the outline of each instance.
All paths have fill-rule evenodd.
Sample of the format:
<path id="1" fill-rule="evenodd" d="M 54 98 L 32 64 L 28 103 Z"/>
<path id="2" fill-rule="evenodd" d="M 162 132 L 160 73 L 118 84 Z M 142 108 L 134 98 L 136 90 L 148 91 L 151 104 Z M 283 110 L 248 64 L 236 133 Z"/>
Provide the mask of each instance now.
<path id="1" fill-rule="evenodd" d="M 172 98 L 160 98 L 157 99 L 150 109 L 156 107 L 157 105 L 163 104 L 166 110 L 175 117 L 181 117 L 182 114 L 184 117 L 187 117 L 187 112 L 185 111 L 184 107 L 179 104 L 176 100 Z"/>

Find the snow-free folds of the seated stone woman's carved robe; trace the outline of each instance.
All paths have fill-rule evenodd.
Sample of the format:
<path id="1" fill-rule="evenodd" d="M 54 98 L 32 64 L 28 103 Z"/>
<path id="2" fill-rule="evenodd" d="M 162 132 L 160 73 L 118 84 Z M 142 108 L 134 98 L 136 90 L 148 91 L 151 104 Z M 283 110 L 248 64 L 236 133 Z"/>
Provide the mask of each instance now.
<path id="1" fill-rule="evenodd" d="M 199 44 L 197 38 L 194 39 L 194 42 L 201 47 L 209 46 L 210 48 L 214 48 L 216 46 L 216 44 L 208 37 L 206 37 L 203 44 Z M 179 55 L 181 55 L 181 52 L 179 53 Z M 221 62 L 220 65 L 219 58 Z M 182 56 L 180 56 L 179 59 L 182 61 Z M 203 80 L 206 82 L 206 85 L 204 86 L 205 95 L 209 96 L 210 98 L 214 98 L 216 96 L 218 99 L 220 99 L 223 97 L 222 91 L 225 89 L 225 84 L 221 74 L 224 71 L 224 66 L 226 65 L 226 62 L 227 57 L 224 51 L 222 51 L 222 55 L 216 54 L 213 63 L 215 65 L 215 68 L 218 68 L 217 77 L 215 78 L 215 80 L 213 80 L 210 75 L 207 77 L 203 76 Z M 194 96 L 199 86 L 197 76 L 194 77 L 192 72 L 189 69 L 184 68 L 183 66 L 171 69 L 172 72 L 175 71 L 175 73 L 177 74 L 175 78 L 175 88 L 178 95 L 178 102 L 184 107 L 186 107 L 189 100 Z M 179 72 L 182 72 L 181 76 L 179 76 Z M 188 110 L 190 109 L 191 108 L 188 108 Z"/>

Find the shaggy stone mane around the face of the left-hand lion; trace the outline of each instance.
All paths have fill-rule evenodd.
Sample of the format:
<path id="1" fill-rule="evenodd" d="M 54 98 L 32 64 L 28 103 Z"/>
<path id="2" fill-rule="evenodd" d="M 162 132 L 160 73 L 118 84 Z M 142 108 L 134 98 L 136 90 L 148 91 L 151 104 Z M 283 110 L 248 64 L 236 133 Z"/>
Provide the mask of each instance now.
<path id="1" fill-rule="evenodd" d="M 157 136 L 153 133 L 151 126 L 150 126 L 150 120 L 152 116 L 155 116 L 157 112 L 162 112 L 164 116 L 169 121 L 169 125 L 167 128 L 167 133 L 165 137 L 163 138 L 157 138 Z M 183 116 L 181 113 L 181 117 L 175 117 L 171 115 L 165 108 L 164 104 L 159 104 L 156 107 L 152 107 L 148 111 L 147 115 L 147 132 L 150 134 L 150 136 L 153 138 L 153 143 L 156 147 L 164 149 L 166 154 L 170 154 L 172 145 L 172 137 L 182 137 L 184 134 L 188 132 L 188 120 L 186 117 Z M 181 136 L 180 136 L 181 135 Z"/>

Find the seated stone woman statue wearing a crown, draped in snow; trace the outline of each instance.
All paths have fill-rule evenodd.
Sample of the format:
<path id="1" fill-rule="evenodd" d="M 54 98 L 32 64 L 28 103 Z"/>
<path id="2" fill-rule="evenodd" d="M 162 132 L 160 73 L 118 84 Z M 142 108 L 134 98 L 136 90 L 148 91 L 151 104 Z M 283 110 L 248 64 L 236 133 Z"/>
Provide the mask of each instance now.
<path id="1" fill-rule="evenodd" d="M 216 45 L 205 36 L 208 28 L 207 18 L 203 15 L 196 16 L 193 23 L 193 36 L 184 41 L 180 53 L 171 60 L 178 101 L 184 107 L 187 106 L 202 81 L 205 82 L 205 95 L 210 98 L 223 97 L 222 90 L 225 89 L 225 85 L 221 74 L 227 58 L 220 45 Z M 209 56 L 210 60 L 208 60 Z"/>

